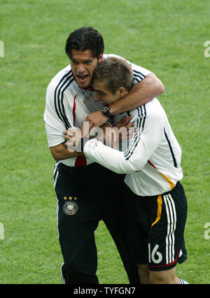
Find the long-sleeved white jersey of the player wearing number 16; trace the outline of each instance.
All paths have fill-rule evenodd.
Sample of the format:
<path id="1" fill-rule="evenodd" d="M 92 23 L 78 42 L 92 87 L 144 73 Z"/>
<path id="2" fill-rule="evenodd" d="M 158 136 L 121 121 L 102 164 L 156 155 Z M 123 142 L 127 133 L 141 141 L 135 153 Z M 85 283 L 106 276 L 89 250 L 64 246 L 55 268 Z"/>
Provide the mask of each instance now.
<path id="1" fill-rule="evenodd" d="M 125 183 L 139 196 L 163 194 L 183 178 L 181 148 L 158 99 L 134 111 L 137 129 L 125 152 L 92 139 L 84 146 L 86 157 L 116 173 L 127 173 Z"/>

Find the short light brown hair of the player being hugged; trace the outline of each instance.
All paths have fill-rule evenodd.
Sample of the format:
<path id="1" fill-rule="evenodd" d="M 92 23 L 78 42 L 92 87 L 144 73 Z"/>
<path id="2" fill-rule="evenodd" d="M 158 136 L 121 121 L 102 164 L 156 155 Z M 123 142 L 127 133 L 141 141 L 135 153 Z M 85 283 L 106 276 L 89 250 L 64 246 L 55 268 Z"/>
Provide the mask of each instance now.
<path id="1" fill-rule="evenodd" d="M 132 66 L 125 59 L 118 57 L 107 57 L 97 64 L 93 73 L 93 79 L 105 81 L 106 88 L 112 94 L 116 94 L 120 87 L 129 91 L 133 85 L 133 77 Z"/>

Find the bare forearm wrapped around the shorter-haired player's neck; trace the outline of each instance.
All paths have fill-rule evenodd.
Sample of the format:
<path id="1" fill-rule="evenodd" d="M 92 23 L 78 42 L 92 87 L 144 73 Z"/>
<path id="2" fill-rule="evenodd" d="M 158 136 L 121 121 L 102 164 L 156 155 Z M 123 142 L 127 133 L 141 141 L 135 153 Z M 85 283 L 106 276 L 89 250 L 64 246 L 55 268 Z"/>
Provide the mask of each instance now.
<path id="1" fill-rule="evenodd" d="M 130 90 L 123 99 L 115 101 L 113 104 L 109 104 L 111 115 L 131 111 L 134 108 L 146 104 L 153 98 L 158 97 L 158 95 L 163 92 L 164 86 L 162 85 L 162 82 L 154 73 L 150 73 L 144 80 L 141 80 L 140 83 L 135 84 L 132 87 L 132 90 Z"/>

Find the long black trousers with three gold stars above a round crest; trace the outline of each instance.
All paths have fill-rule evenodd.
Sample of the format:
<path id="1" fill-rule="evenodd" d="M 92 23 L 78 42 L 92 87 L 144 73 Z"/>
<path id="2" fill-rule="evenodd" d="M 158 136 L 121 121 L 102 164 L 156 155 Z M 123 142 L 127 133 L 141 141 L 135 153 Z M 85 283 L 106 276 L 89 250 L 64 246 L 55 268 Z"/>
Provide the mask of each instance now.
<path id="1" fill-rule="evenodd" d="M 97 283 L 94 231 L 100 220 L 116 243 L 130 283 L 139 283 L 126 236 L 125 175 L 96 163 L 71 167 L 62 162 L 54 174 L 59 243 L 65 268 L 74 271 L 72 277 L 62 267 L 65 283 L 78 283 L 78 274 L 88 277 L 82 283 Z"/>

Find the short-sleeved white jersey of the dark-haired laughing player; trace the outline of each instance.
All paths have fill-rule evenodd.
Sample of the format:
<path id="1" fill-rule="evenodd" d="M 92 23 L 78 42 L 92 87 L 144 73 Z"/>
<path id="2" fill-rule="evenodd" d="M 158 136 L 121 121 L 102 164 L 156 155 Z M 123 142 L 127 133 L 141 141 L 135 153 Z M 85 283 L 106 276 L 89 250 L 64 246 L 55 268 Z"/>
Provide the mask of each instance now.
<path id="1" fill-rule="evenodd" d="M 116 55 L 104 55 L 103 58 L 106 59 L 109 56 Z M 134 83 L 139 83 L 151 73 L 141 66 L 131 65 L 134 71 Z M 69 129 L 69 127 L 81 128 L 87 115 L 99 111 L 101 108 L 102 104 L 99 101 L 94 101 L 94 90 L 78 87 L 73 78 L 70 64 L 59 71 L 52 78 L 46 92 L 44 120 L 48 146 L 64 143 L 63 132 L 65 129 Z M 67 166 L 85 166 L 91 164 L 93 160 L 88 157 L 72 157 L 61 162 Z"/>

